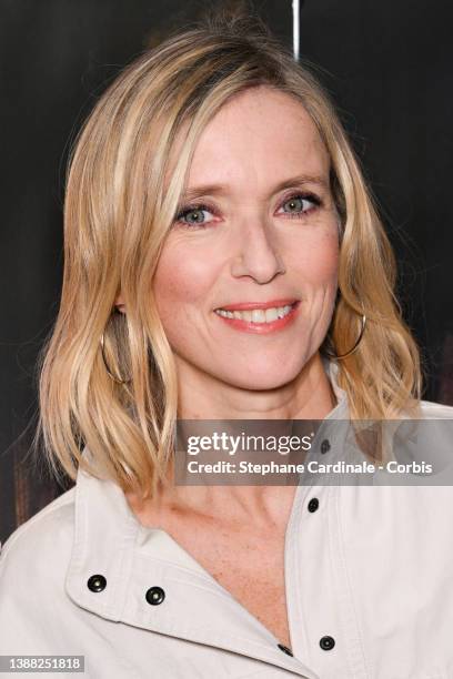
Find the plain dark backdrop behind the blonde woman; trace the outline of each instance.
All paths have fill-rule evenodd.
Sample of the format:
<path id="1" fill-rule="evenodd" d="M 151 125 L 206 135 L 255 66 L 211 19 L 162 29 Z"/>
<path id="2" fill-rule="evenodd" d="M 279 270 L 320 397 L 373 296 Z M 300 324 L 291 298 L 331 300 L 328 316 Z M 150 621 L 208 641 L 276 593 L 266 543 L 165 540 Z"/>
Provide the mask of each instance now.
<path id="1" fill-rule="evenodd" d="M 37 353 L 59 305 L 68 146 L 118 71 L 204 4 L 0 1 L 1 541 L 69 487 L 28 454 Z M 339 107 L 396 251 L 400 298 L 423 352 L 424 398 L 453 405 L 451 3 L 301 4 L 301 55 L 318 64 Z M 291 0 L 255 7 L 291 45 Z"/>

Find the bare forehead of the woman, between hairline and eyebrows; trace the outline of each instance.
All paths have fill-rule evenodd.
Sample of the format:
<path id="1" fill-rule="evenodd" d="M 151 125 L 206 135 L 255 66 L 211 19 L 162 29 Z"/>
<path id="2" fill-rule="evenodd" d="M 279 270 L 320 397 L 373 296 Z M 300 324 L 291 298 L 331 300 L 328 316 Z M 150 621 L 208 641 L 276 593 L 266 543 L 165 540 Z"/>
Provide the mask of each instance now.
<path id="1" fill-rule="evenodd" d="M 218 111 L 200 135 L 188 186 L 230 183 L 269 188 L 291 175 L 328 179 L 329 154 L 303 105 L 269 87 L 241 92 Z"/>

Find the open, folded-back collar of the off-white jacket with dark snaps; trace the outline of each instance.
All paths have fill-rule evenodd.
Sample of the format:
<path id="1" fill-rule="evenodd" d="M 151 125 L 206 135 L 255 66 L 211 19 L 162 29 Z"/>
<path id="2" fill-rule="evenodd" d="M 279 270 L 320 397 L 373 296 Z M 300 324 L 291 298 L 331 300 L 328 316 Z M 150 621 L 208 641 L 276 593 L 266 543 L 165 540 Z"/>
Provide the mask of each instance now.
<path id="1" fill-rule="evenodd" d="M 325 363 L 325 368 L 339 403 L 316 438 L 325 436 L 321 432 L 324 425 L 344 417 L 346 408 L 344 392 L 336 385 L 336 366 Z M 90 457 L 87 448 L 83 455 Z M 305 493 L 306 488 L 298 486 L 286 529 L 285 560 L 296 539 L 294 518 Z M 104 576 L 102 591 L 88 588 L 92 575 Z M 165 591 L 162 605 L 150 606 L 145 599 L 153 586 Z M 142 526 L 117 484 L 80 468 L 66 589 L 74 604 L 108 620 L 226 649 L 315 679 L 303 662 L 282 653 L 278 639 L 169 534 Z"/>

